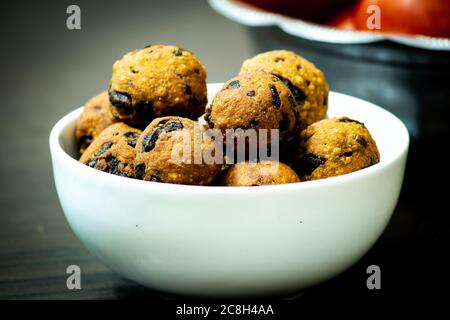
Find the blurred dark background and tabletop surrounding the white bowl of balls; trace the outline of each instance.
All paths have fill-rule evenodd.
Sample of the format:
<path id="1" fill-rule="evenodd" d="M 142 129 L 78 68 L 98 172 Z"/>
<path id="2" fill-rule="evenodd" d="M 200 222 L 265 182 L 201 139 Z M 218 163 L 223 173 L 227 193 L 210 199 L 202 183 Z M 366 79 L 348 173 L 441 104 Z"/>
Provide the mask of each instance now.
<path id="1" fill-rule="evenodd" d="M 66 27 L 71 4 L 81 8 L 81 30 Z M 19 0 L 2 8 L 1 299 L 167 298 L 114 275 L 76 239 L 57 200 L 47 142 L 59 118 L 107 88 L 115 60 L 158 43 L 192 51 L 205 65 L 208 82 L 226 81 L 243 60 L 259 52 L 293 50 L 325 72 L 331 90 L 379 104 L 407 124 L 412 138 L 408 169 L 386 232 L 350 270 L 292 303 L 338 295 L 368 300 L 413 292 L 429 296 L 449 283 L 444 276 L 450 234 L 445 209 L 449 51 L 390 41 L 302 39 L 275 26 L 233 22 L 198 0 Z M 337 15 L 338 9 L 333 10 L 327 15 Z M 82 290 L 66 288 L 71 264 L 81 267 Z M 370 264 L 381 267 L 380 292 L 366 289 Z"/>

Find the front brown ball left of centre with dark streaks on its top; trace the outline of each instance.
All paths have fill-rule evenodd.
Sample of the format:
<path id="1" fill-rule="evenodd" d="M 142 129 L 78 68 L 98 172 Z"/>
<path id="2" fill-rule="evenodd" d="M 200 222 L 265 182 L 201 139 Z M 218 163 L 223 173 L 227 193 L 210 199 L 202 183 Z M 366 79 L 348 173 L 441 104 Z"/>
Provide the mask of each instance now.
<path id="1" fill-rule="evenodd" d="M 194 144 L 198 137 L 200 142 Z M 135 176 L 155 182 L 209 185 L 220 173 L 223 162 L 223 158 L 204 160 L 205 150 L 214 147 L 198 123 L 181 117 L 157 118 L 136 144 Z"/>

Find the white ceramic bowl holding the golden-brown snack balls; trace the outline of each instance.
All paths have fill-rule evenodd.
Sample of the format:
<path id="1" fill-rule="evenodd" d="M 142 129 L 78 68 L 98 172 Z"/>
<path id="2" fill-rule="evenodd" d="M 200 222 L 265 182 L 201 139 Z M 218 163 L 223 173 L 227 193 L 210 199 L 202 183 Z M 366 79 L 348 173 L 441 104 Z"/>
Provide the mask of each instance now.
<path id="1" fill-rule="evenodd" d="M 211 98 L 221 84 L 208 85 Z M 288 294 L 354 264 L 397 203 L 409 145 L 403 123 L 331 92 L 329 116 L 362 121 L 381 162 L 325 180 L 262 187 L 145 182 L 74 159 L 79 108 L 50 134 L 58 196 L 75 234 L 118 274 L 164 292 L 210 297 Z"/>

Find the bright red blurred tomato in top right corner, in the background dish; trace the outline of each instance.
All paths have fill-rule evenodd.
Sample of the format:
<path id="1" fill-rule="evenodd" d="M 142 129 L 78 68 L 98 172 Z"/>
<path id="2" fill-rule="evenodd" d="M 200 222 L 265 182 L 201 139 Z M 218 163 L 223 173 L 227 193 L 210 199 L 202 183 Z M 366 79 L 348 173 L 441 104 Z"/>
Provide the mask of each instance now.
<path id="1" fill-rule="evenodd" d="M 369 30 L 369 5 L 381 10 L 381 30 Z M 450 38 L 449 0 L 361 0 L 356 10 L 359 30 Z"/>

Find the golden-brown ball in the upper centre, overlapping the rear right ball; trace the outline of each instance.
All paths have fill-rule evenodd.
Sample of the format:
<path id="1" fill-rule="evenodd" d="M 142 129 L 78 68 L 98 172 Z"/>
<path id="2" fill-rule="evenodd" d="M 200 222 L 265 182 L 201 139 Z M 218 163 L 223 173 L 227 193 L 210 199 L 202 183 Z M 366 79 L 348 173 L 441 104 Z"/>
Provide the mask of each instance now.
<path id="1" fill-rule="evenodd" d="M 206 109 L 210 128 L 279 129 L 282 144 L 298 129 L 294 97 L 275 76 L 262 71 L 242 73 L 227 81 Z"/>

